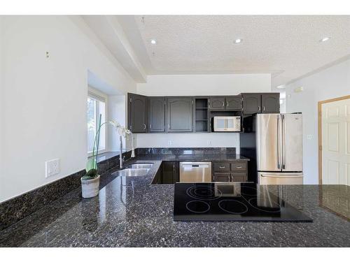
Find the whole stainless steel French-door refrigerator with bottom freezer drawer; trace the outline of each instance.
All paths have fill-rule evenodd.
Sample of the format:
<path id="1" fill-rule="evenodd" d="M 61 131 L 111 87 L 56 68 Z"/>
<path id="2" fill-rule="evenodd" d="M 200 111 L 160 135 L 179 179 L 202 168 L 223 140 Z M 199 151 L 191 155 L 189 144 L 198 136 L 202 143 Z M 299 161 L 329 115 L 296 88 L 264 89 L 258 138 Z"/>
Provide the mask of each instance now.
<path id="1" fill-rule="evenodd" d="M 259 184 L 302 184 L 302 114 L 258 114 L 255 120 Z"/>

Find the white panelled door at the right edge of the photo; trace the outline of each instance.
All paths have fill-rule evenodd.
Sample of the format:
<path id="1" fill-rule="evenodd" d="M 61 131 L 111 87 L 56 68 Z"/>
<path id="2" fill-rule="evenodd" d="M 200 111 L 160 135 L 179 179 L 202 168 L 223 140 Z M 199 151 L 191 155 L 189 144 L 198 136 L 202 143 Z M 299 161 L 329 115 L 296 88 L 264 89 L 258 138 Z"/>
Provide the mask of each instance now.
<path id="1" fill-rule="evenodd" d="M 350 186 L 350 99 L 323 103 L 322 184 Z"/>

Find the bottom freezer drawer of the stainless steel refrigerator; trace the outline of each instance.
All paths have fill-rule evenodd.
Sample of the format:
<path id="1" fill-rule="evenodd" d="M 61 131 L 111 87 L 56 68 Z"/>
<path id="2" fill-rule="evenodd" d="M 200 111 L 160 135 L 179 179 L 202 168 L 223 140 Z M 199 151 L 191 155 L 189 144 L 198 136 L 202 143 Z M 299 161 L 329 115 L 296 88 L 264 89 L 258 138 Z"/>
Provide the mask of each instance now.
<path id="1" fill-rule="evenodd" d="M 259 184 L 302 184 L 302 173 L 258 172 Z"/>

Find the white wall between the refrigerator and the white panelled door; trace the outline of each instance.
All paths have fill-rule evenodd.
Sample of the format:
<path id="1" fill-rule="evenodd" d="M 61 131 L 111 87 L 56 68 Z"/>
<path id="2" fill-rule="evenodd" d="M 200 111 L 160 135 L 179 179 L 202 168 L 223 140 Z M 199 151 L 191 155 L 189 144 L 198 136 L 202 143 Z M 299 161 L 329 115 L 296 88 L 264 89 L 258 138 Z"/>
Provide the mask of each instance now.
<path id="1" fill-rule="evenodd" d="M 295 93 L 297 87 L 304 91 Z M 286 111 L 302 112 L 304 184 L 318 184 L 317 103 L 349 94 L 350 59 L 286 86 Z"/>

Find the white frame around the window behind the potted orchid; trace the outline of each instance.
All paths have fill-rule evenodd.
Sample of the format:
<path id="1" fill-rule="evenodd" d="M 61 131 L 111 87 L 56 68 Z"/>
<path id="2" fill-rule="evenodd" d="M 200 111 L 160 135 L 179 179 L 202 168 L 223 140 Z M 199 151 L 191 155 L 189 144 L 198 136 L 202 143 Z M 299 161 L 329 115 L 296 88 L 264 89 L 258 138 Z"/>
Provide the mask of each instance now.
<path id="1" fill-rule="evenodd" d="M 106 122 L 108 119 L 108 96 L 106 94 L 100 92 L 99 90 L 88 86 L 86 100 L 88 98 L 104 103 L 104 119 Z M 95 117 L 97 119 L 97 122 L 96 122 L 96 130 L 97 130 L 97 124 L 98 124 L 98 119 L 99 119 L 99 107 L 98 106 L 96 107 L 96 116 Z M 86 121 L 86 123 L 87 123 L 87 121 Z M 107 140 L 108 140 L 107 126 L 104 125 L 104 149 L 97 150 L 97 154 L 102 154 L 102 153 L 107 151 L 107 145 L 108 145 Z M 92 157 L 92 152 L 87 151 L 87 157 Z"/>

